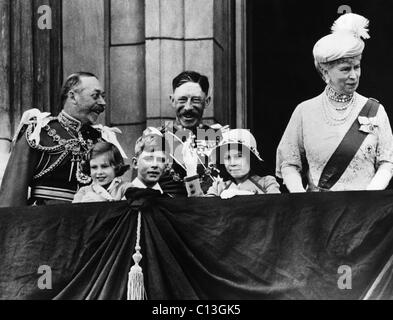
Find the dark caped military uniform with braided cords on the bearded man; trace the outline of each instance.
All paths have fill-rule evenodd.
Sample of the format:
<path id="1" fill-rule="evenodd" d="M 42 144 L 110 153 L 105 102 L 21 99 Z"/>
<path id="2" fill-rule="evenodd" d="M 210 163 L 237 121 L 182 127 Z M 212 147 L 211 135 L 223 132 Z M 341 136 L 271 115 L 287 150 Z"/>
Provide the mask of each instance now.
<path id="1" fill-rule="evenodd" d="M 81 161 L 101 133 L 82 127 L 64 112 L 44 120 L 38 117 L 30 118 L 17 132 L 0 189 L 1 207 L 23 206 L 37 199 L 72 201 L 77 189 L 90 182 L 81 171 Z"/>

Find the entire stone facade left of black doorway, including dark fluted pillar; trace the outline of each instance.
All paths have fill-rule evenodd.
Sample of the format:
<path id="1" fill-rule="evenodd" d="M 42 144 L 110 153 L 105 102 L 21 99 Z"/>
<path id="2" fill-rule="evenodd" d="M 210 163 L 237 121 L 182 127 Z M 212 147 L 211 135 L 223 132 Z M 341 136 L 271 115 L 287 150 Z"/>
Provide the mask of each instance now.
<path id="1" fill-rule="evenodd" d="M 129 156 L 146 126 L 174 119 L 171 81 L 186 69 L 209 77 L 205 121 L 233 125 L 234 2 L 0 0 L 0 153 L 26 109 L 58 113 L 60 86 L 76 71 L 104 84 L 100 121 L 123 131 Z M 40 5 L 52 8 L 51 30 L 37 28 Z"/>

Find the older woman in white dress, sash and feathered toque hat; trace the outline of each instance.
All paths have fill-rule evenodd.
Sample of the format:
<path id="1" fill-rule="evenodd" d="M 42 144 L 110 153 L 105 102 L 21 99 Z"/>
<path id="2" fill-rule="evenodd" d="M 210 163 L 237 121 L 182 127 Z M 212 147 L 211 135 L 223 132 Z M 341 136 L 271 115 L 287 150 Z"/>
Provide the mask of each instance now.
<path id="1" fill-rule="evenodd" d="M 384 107 L 358 94 L 368 20 L 342 15 L 314 46 L 326 82 L 299 104 L 277 149 L 276 175 L 290 192 L 383 190 L 393 174 L 393 136 Z"/>

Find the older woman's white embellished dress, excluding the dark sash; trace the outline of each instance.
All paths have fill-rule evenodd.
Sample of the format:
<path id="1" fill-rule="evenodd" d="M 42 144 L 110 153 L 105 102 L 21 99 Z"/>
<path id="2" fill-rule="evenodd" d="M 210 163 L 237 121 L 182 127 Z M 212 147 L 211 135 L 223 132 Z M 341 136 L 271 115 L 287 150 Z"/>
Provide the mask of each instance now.
<path id="1" fill-rule="evenodd" d="M 336 111 L 326 103 L 323 92 L 299 104 L 277 149 L 276 175 L 282 178 L 282 170 L 293 167 L 308 177 L 309 184 L 317 186 L 326 163 L 353 122 L 358 121 L 367 100 L 355 93 L 351 108 Z M 381 165 L 393 170 L 393 135 L 384 107 L 380 105 L 376 117 L 366 120 L 371 126 L 361 129 L 369 134 L 332 191 L 365 190 Z"/>

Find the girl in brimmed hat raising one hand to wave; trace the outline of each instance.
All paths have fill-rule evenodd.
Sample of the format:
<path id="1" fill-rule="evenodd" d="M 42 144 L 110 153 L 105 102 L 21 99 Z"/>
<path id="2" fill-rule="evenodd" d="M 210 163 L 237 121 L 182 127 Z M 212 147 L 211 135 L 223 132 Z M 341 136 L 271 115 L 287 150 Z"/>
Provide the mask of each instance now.
<path id="1" fill-rule="evenodd" d="M 236 195 L 280 193 L 280 186 L 273 176 L 259 176 L 262 159 L 254 136 L 245 129 L 234 129 L 223 133 L 219 146 L 213 150 L 211 159 L 220 172 L 206 196 L 228 199 Z M 185 178 L 189 197 L 203 196 L 199 179 L 195 175 L 195 151 L 190 141 L 183 148 L 183 160 L 187 168 Z"/>

